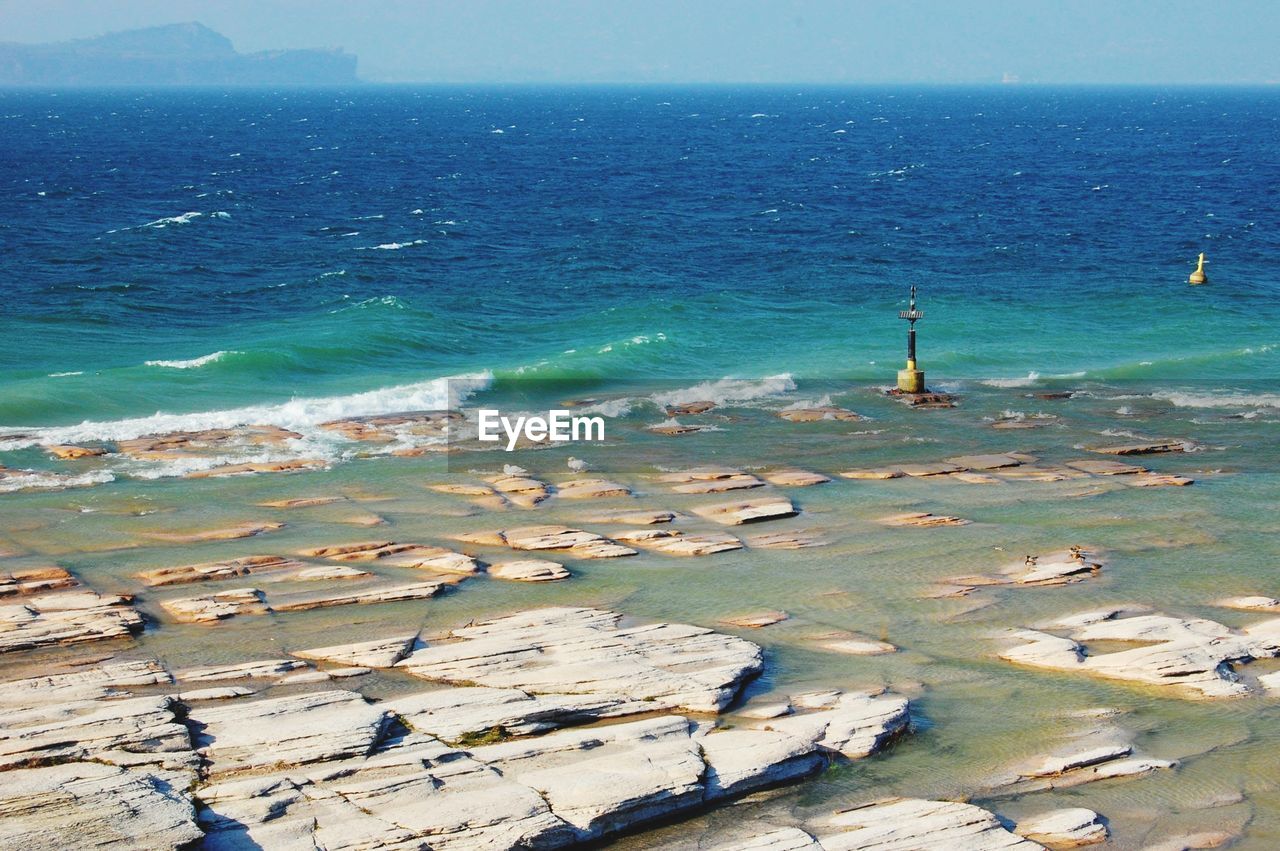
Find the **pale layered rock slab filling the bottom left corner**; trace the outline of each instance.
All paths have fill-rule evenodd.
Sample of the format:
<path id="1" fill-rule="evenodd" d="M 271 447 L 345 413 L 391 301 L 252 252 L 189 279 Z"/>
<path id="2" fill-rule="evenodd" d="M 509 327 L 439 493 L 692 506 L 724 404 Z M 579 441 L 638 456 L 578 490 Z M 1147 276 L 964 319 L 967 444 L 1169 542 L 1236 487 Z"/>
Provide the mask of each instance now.
<path id="1" fill-rule="evenodd" d="M 178 848 L 202 836 L 191 799 L 148 772 L 68 763 L 0 773 L 8 848 Z"/>

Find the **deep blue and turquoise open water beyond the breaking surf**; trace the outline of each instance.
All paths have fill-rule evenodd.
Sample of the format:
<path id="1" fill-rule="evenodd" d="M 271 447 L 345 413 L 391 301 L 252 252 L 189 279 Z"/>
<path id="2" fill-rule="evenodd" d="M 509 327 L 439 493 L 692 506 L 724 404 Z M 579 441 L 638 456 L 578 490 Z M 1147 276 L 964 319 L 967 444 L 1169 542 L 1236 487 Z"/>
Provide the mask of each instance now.
<path id="1" fill-rule="evenodd" d="M 1277 143 L 1275 90 L 0 92 L 0 425 L 890 380 L 911 283 L 931 378 L 1275 378 Z"/>

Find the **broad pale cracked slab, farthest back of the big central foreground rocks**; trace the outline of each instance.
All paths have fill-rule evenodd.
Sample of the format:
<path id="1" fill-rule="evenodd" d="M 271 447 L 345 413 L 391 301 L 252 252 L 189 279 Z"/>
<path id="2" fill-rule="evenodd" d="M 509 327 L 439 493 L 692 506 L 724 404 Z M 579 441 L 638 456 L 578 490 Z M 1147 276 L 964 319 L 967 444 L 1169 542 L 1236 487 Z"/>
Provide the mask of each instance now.
<path id="1" fill-rule="evenodd" d="M 442 682 L 652 701 L 718 712 L 763 667 L 760 649 L 701 627 L 620 627 L 598 609 L 535 609 L 453 630 L 397 667 Z"/>

